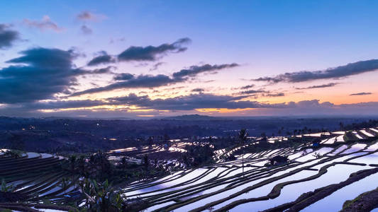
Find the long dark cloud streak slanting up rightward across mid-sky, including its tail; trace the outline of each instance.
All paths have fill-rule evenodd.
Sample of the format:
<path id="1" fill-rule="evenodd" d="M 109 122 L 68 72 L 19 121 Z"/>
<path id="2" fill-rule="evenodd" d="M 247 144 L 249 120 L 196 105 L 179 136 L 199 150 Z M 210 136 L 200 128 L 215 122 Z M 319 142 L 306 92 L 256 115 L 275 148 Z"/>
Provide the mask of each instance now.
<path id="1" fill-rule="evenodd" d="M 72 96 L 83 95 L 87 93 L 98 93 L 98 92 L 121 89 L 121 88 L 156 88 L 160 86 L 168 86 L 174 83 L 181 83 L 184 81 L 188 81 L 189 78 L 187 78 L 187 76 L 194 77 L 198 73 L 203 73 L 206 71 L 210 71 L 210 72 L 218 71 L 221 69 L 227 69 L 227 68 L 231 68 L 235 66 L 238 66 L 238 64 L 221 64 L 221 65 L 206 64 L 204 66 L 191 66 L 189 69 L 182 69 L 180 71 L 174 72 L 172 74 L 173 77 L 170 77 L 164 74 L 158 74 L 156 76 L 141 74 L 135 77 L 130 73 L 123 73 L 123 74 L 121 73 L 121 74 L 118 74 L 114 78 L 117 81 L 115 83 L 112 83 L 104 87 L 83 90 L 83 91 L 72 94 Z"/>

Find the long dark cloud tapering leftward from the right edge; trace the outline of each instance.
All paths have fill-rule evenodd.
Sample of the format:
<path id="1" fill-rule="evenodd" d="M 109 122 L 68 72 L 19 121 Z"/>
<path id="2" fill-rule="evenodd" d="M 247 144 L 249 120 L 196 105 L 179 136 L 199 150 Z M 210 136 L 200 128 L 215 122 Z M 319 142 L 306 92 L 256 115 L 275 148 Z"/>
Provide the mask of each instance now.
<path id="1" fill-rule="evenodd" d="M 370 59 L 365 61 L 357 61 L 355 63 L 346 64 L 321 71 L 298 71 L 291 73 L 283 73 L 274 77 L 257 78 L 254 81 L 267 81 L 270 83 L 298 83 L 304 81 L 313 81 L 328 78 L 343 78 L 347 76 L 376 71 L 378 69 L 378 59 Z"/>

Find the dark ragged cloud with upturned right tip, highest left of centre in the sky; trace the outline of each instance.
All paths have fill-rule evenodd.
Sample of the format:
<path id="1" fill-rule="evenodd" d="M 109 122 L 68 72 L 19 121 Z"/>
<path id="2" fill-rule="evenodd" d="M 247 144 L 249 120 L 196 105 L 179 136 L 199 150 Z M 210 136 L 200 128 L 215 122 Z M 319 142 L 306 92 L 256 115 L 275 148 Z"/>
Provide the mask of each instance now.
<path id="1" fill-rule="evenodd" d="M 167 54 L 168 52 L 184 52 L 187 47 L 182 47 L 191 40 L 187 37 L 177 40 L 172 44 L 162 44 L 160 46 L 147 47 L 128 47 L 125 51 L 118 54 L 119 61 L 155 61 L 158 57 Z"/>

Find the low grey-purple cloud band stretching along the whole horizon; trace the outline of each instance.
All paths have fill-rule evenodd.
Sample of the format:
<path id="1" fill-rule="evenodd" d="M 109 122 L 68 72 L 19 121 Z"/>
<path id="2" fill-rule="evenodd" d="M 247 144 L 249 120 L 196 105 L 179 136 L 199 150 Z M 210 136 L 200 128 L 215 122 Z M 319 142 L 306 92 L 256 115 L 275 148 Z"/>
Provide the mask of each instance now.
<path id="1" fill-rule="evenodd" d="M 148 95 L 135 95 L 106 98 L 104 100 L 52 100 L 42 102 L 23 102 L 12 105 L 0 105 L 1 114 L 28 116 L 64 115 L 77 116 L 89 114 L 92 117 L 116 117 L 123 112 L 125 116 L 133 116 L 135 112 L 128 112 L 131 106 L 153 110 L 155 112 L 168 110 L 169 112 L 184 112 L 203 108 L 227 108 L 227 109 L 255 109 L 248 110 L 244 115 L 335 115 L 335 114 L 377 114 L 378 102 L 360 102 L 356 104 L 334 105 L 331 102 L 319 102 L 319 100 L 304 100 L 300 102 L 262 103 L 243 100 L 249 95 L 231 96 L 214 95 L 209 93 L 196 93 L 182 95 L 174 98 L 151 99 Z M 105 105 L 122 105 L 119 109 L 109 111 Z M 96 109 L 89 108 L 96 106 Z M 60 109 L 75 109 L 61 111 Z M 41 110 L 50 110 L 49 113 Z M 52 110 L 52 111 L 51 111 Z M 152 111 L 152 112 L 153 112 Z M 127 113 L 126 113 L 127 112 Z M 161 114 L 161 112 L 159 112 Z M 169 113 L 168 113 L 169 114 Z"/>

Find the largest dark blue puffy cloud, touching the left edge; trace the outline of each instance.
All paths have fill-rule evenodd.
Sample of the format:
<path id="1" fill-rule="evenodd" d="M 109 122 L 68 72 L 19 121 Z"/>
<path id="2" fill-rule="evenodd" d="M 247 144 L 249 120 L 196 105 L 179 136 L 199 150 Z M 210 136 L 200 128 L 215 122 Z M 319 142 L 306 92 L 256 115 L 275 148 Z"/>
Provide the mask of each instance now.
<path id="1" fill-rule="evenodd" d="M 0 103 L 54 99 L 57 93 L 70 93 L 77 85 L 77 76 L 109 71 L 75 68 L 72 60 L 77 54 L 73 50 L 38 47 L 20 54 L 6 61 L 16 65 L 0 69 Z"/>

